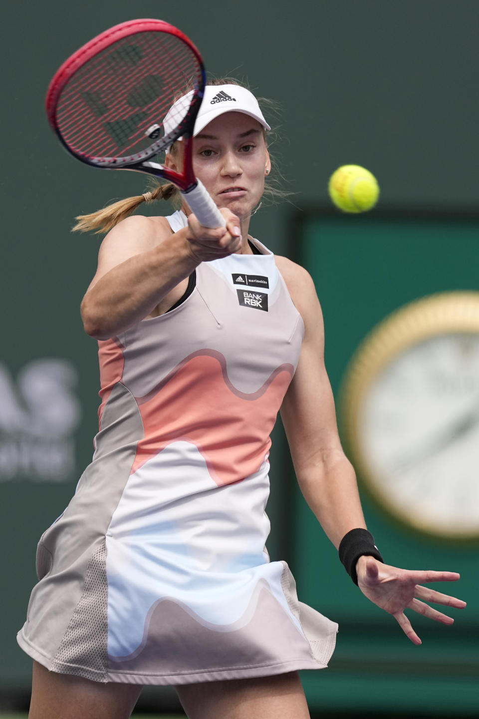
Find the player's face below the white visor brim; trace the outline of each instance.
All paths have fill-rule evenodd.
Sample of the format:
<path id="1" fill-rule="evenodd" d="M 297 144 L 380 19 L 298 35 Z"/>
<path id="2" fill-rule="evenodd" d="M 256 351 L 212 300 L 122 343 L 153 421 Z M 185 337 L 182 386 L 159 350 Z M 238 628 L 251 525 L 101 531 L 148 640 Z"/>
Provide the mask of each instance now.
<path id="1" fill-rule="evenodd" d="M 225 112 L 193 140 L 193 169 L 218 207 L 240 219 L 261 200 L 271 167 L 261 124 L 241 112 Z"/>

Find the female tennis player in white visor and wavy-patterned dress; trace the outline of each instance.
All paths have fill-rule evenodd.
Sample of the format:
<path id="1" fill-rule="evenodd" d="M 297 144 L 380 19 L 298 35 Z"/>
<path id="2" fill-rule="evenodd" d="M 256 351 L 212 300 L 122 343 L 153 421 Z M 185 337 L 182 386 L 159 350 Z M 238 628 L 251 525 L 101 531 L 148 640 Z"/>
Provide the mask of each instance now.
<path id="1" fill-rule="evenodd" d="M 193 162 L 226 227 L 200 226 L 183 201 L 103 240 L 81 306 L 99 342 L 100 430 L 39 541 L 19 632 L 34 659 L 31 719 L 126 719 L 145 684 L 174 686 L 190 719 L 309 717 L 297 671 L 327 666 L 338 627 L 298 601 L 287 564 L 265 549 L 279 410 L 304 498 L 363 594 L 414 644 L 406 608 L 450 624 L 427 602 L 465 606 L 422 586 L 458 574 L 391 567 L 366 530 L 312 279 L 249 234 L 268 130 L 246 88 L 208 86 Z M 179 167 L 181 140 L 166 162 Z M 80 224 L 106 228 L 171 192 Z"/>

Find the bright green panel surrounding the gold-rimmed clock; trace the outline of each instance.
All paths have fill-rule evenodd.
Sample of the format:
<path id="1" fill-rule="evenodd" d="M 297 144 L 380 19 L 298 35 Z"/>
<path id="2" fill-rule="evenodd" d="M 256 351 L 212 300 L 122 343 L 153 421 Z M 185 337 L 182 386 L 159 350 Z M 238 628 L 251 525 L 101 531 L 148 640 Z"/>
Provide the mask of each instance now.
<path id="1" fill-rule="evenodd" d="M 351 355 L 385 316 L 425 295 L 478 290 L 479 214 L 378 210 L 343 216 L 316 208 L 297 214 L 293 224 L 301 238 L 298 259 L 310 268 L 322 303 L 325 361 L 336 397 Z M 341 426 L 342 403 L 337 406 Z M 478 482 L 477 467 L 469 472 Z M 437 589 L 461 597 L 468 608 L 450 610 L 452 627 L 406 612 L 423 641 L 420 647 L 411 644 L 393 618 L 358 595 L 294 489 L 291 536 L 299 595 L 340 626 L 329 676 L 304 672 L 304 686 L 318 707 L 477 715 L 479 540 L 455 542 L 413 531 L 386 516 L 363 491 L 361 475 L 358 480 L 366 523 L 385 561 L 460 572 L 457 585 Z"/>

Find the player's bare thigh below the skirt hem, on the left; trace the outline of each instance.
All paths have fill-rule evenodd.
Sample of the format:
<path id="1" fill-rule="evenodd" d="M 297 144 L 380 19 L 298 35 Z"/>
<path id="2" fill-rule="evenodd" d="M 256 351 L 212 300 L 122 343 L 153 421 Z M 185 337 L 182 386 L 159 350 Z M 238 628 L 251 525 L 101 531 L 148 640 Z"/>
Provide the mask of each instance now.
<path id="1" fill-rule="evenodd" d="M 128 719 L 141 692 L 137 684 L 103 684 L 49 672 L 33 662 L 29 719 Z"/>

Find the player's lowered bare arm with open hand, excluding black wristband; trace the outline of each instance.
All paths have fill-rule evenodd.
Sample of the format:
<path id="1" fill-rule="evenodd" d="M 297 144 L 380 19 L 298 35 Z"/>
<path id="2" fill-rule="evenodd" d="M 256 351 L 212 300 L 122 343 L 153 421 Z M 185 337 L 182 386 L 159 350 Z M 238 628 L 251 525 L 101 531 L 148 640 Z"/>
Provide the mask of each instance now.
<path id="1" fill-rule="evenodd" d="M 282 419 L 294 469 L 305 500 L 338 548 L 348 531 L 366 528 L 355 472 L 338 436 L 334 401 L 324 365 L 324 329 L 314 283 L 302 267 L 280 260 L 294 304 L 304 321 L 304 342 L 297 370 L 282 405 Z M 454 582 L 456 572 L 411 571 L 383 564 L 364 554 L 356 562 L 358 586 L 389 612 L 414 644 L 421 640 L 404 610 L 451 624 L 453 619 L 425 602 L 462 609 L 465 602 L 422 587 L 424 582 Z"/>

